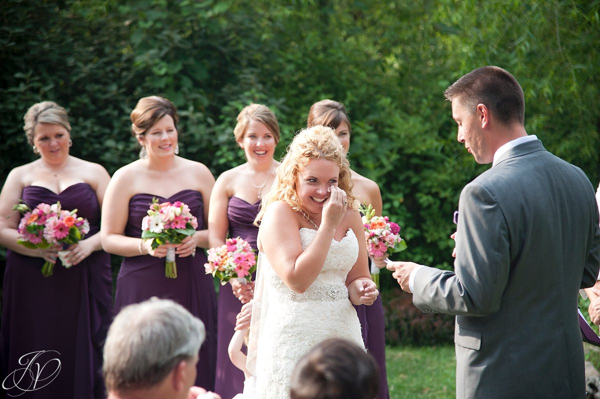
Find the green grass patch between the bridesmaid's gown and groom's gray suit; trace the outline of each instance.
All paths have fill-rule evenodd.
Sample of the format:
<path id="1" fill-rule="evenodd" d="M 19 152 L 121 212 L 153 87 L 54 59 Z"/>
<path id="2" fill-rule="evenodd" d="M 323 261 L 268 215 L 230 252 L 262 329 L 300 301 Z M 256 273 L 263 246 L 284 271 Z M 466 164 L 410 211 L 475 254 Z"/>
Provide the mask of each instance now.
<path id="1" fill-rule="evenodd" d="M 391 399 L 455 398 L 454 345 L 385 350 Z"/>

